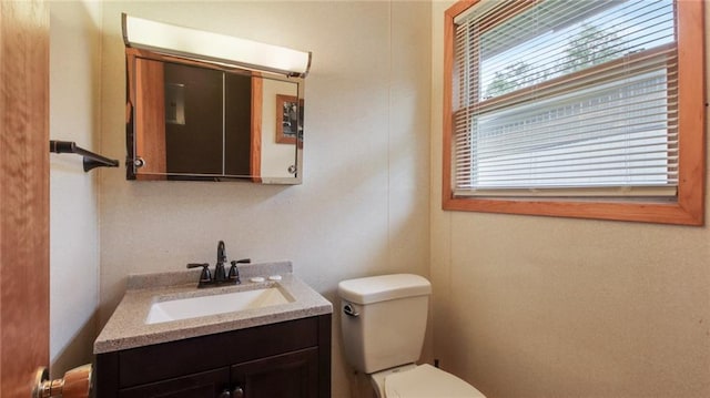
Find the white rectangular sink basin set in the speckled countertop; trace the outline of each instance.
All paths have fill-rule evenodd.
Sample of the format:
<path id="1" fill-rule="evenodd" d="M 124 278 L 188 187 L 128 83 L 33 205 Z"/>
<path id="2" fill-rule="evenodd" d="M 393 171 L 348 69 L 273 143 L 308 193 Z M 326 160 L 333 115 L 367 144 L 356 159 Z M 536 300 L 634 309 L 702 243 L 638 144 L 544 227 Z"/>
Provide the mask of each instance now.
<path id="1" fill-rule="evenodd" d="M 160 324 L 293 302 L 293 298 L 278 287 L 158 300 L 151 305 L 145 323 Z"/>

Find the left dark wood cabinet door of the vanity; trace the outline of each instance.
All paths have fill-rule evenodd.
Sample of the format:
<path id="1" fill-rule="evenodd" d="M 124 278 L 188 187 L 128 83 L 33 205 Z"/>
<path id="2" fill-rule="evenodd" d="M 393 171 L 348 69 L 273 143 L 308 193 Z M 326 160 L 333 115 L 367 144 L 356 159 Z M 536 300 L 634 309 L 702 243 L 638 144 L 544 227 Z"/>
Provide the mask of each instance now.
<path id="1" fill-rule="evenodd" d="M 122 389 L 120 398 L 219 398 L 229 391 L 230 369 L 203 371 Z M 225 397 L 229 397 L 229 392 Z"/>

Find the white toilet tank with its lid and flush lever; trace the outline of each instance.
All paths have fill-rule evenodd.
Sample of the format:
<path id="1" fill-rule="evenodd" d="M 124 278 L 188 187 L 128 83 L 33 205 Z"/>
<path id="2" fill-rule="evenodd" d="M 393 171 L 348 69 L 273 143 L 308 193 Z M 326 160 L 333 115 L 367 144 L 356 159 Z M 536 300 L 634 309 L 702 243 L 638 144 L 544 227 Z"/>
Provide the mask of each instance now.
<path id="1" fill-rule="evenodd" d="M 348 364 L 372 374 L 419 358 L 432 294 L 426 278 L 371 276 L 343 280 L 337 290 Z"/>

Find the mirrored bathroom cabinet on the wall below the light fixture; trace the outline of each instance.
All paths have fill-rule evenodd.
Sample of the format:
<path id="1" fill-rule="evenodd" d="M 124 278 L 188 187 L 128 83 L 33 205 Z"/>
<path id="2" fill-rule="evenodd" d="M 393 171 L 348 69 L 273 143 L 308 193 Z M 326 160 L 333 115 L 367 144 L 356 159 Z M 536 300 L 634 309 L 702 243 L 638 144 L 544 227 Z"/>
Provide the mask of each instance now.
<path id="1" fill-rule="evenodd" d="M 125 54 L 129 180 L 301 183 L 302 78 Z"/>

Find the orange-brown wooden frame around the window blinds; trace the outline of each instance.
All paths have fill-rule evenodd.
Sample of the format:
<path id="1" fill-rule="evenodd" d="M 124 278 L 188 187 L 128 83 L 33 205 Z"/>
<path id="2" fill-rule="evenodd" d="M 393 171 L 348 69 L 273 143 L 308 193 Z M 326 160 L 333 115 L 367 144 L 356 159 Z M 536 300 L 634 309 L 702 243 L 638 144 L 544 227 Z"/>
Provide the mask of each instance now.
<path id="1" fill-rule="evenodd" d="M 661 224 L 703 225 L 706 185 L 704 4 L 676 0 L 678 16 L 679 182 L 674 202 L 559 197 L 455 197 L 452 184 L 454 40 L 456 16 L 478 3 L 462 0 L 445 12 L 443 192 L 446 211 L 526 214 Z"/>

